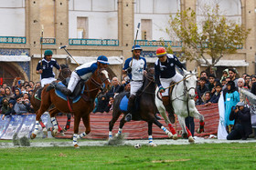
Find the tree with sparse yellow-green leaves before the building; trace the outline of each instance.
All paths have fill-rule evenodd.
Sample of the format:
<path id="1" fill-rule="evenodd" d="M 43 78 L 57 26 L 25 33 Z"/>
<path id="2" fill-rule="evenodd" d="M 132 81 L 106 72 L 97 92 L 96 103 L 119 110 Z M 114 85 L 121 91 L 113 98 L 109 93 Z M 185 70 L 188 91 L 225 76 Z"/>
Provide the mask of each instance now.
<path id="1" fill-rule="evenodd" d="M 169 27 L 165 32 L 173 39 L 175 36 L 182 41 L 181 59 L 198 63 L 203 59 L 208 69 L 219 62 L 224 55 L 235 54 L 242 48 L 250 33 L 234 21 L 228 20 L 224 15 L 219 15 L 219 5 L 205 6 L 208 9 L 205 17 L 198 22 L 195 11 L 187 9 L 170 15 Z M 174 36 L 175 35 L 175 36 Z M 167 50 L 171 50 L 169 46 Z M 208 57 L 211 63 L 208 62 Z"/>

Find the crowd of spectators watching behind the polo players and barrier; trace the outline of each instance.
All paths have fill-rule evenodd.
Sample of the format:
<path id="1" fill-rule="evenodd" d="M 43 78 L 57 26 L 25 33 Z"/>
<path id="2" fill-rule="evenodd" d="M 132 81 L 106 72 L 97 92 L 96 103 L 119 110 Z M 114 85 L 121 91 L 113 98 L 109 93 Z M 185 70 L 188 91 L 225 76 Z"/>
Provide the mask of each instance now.
<path id="1" fill-rule="evenodd" d="M 33 89 L 37 86 L 40 86 L 40 82 L 23 82 L 19 78 L 15 78 L 11 86 L 5 83 L 0 85 L 0 112 L 2 119 L 6 115 L 35 113 L 33 106 L 30 104 L 30 97 Z M 196 105 L 204 106 L 217 104 L 222 93 L 226 106 L 225 119 L 227 120 L 225 121 L 227 131 L 230 133 L 234 125 L 233 118 L 229 119 L 232 107 L 236 106 L 239 102 L 247 104 L 246 97 L 240 93 L 241 89 L 249 90 L 252 94 L 256 95 L 256 75 L 243 74 L 241 77 L 238 77 L 235 69 L 225 69 L 221 77 L 216 77 L 215 75 L 208 75 L 207 72 L 203 71 L 197 77 L 195 103 Z M 112 88 L 107 92 L 101 92 L 96 97 L 93 113 L 112 112 L 114 96 L 124 91 L 130 91 L 130 82 L 127 75 L 123 75 L 121 81 L 117 77 L 113 77 Z M 231 115 L 234 116 L 233 114 Z M 191 130 L 192 135 L 194 135 L 194 118 L 187 117 L 186 124 Z M 243 136 L 243 139 L 245 138 L 246 136 Z"/>

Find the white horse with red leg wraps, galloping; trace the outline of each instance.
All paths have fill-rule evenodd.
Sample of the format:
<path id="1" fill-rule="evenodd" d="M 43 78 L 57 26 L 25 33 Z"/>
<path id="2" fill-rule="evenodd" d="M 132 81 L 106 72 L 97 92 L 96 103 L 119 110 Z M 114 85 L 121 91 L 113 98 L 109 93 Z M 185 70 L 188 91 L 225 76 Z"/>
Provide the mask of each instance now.
<path id="1" fill-rule="evenodd" d="M 171 104 L 174 107 L 175 114 L 177 115 L 178 122 L 182 127 L 182 133 L 187 134 L 189 142 L 195 142 L 190 131 L 188 130 L 185 124 L 185 118 L 190 115 L 192 117 L 198 118 L 200 120 L 200 127 L 197 130 L 197 133 L 201 133 L 204 131 L 204 116 L 199 114 L 195 105 L 195 96 L 196 96 L 196 86 L 197 86 L 197 76 L 196 72 L 187 72 L 184 71 L 183 80 L 177 82 L 173 87 L 173 92 L 170 95 Z M 159 88 L 157 87 L 155 90 L 155 105 L 159 111 L 159 113 L 164 117 L 165 124 L 167 124 L 170 129 L 172 129 L 172 134 L 174 133 L 174 129 L 170 124 L 170 121 L 165 113 L 165 106 L 163 105 L 162 95 L 159 93 Z"/>

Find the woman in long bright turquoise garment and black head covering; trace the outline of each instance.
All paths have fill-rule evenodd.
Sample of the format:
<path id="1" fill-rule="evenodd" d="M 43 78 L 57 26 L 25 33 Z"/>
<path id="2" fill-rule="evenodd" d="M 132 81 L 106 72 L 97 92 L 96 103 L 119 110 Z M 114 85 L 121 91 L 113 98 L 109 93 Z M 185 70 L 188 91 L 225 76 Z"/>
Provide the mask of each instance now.
<path id="1" fill-rule="evenodd" d="M 236 106 L 240 101 L 240 94 L 237 91 L 235 83 L 229 81 L 227 84 L 228 93 L 226 94 L 225 100 L 225 124 L 228 126 L 228 131 L 231 131 L 232 126 L 234 125 L 234 120 L 229 120 L 229 115 L 231 113 L 232 107 Z"/>

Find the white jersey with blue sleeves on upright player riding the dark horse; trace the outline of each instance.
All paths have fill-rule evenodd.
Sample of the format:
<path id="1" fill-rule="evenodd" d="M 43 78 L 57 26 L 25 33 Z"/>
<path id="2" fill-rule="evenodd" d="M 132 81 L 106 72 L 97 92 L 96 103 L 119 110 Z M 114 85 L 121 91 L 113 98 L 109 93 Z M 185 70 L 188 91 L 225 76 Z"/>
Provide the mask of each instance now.
<path id="1" fill-rule="evenodd" d="M 132 57 L 127 58 L 125 60 L 123 70 L 126 70 L 129 66 L 132 67 L 132 74 L 130 74 L 130 79 L 134 81 L 140 81 L 144 78 L 144 70 L 146 69 L 146 61 L 144 57 L 141 57 L 137 60 L 133 58 L 133 65 L 132 64 Z"/>

